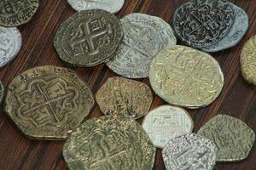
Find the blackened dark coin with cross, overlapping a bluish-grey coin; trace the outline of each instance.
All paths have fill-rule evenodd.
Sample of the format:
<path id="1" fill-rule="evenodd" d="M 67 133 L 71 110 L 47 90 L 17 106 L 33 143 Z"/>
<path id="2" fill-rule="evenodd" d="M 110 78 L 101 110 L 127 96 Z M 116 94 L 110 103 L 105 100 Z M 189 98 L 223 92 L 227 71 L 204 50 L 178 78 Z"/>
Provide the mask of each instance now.
<path id="1" fill-rule="evenodd" d="M 190 0 L 177 8 L 172 24 L 182 42 L 203 48 L 224 38 L 235 18 L 230 3 L 225 0 Z"/>

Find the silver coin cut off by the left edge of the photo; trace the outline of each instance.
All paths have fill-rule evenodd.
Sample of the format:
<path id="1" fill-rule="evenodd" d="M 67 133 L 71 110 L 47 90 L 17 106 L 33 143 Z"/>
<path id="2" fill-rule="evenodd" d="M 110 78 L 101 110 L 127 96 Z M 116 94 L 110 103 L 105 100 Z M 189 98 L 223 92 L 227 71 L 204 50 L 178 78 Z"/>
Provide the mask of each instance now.
<path id="1" fill-rule="evenodd" d="M 21 34 L 17 28 L 0 26 L 0 67 L 15 59 L 21 44 Z"/>

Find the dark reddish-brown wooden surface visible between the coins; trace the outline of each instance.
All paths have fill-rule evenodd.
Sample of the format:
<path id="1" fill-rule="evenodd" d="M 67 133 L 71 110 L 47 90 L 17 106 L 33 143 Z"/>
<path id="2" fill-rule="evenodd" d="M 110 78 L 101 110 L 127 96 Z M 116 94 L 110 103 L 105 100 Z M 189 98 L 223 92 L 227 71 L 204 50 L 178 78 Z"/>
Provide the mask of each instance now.
<path id="1" fill-rule="evenodd" d="M 0 79 L 6 86 L 16 75 L 26 69 L 38 65 L 66 66 L 58 58 L 53 47 L 55 31 L 61 22 L 67 20 L 75 11 L 67 0 L 39 0 L 40 6 L 33 19 L 19 29 L 23 37 L 23 47 L 17 58 L 0 69 Z M 183 0 L 125 0 L 124 8 L 117 14 L 119 18 L 132 12 L 160 16 L 170 23 L 174 9 Z M 195 122 L 197 132 L 210 118 L 218 114 L 236 116 L 247 122 L 256 131 L 256 87 L 241 77 L 239 57 L 243 44 L 252 37 L 256 29 L 256 0 L 231 0 L 230 2 L 243 8 L 250 19 L 250 28 L 246 36 L 234 48 L 212 54 L 218 59 L 225 77 L 224 90 L 219 98 L 207 108 L 189 111 Z M 93 93 L 102 86 L 108 77 L 116 76 L 106 65 L 92 68 L 73 68 L 80 77 L 88 82 Z M 148 79 L 141 80 L 148 83 Z M 154 104 L 165 104 L 154 95 Z M 102 116 L 96 105 L 90 117 Z M 142 122 L 142 120 L 139 120 Z M 26 139 L 14 123 L 0 111 L 0 170 L 9 169 L 67 169 L 61 148 L 63 141 L 36 141 Z M 238 163 L 218 163 L 218 170 L 254 170 L 256 169 L 256 147 L 253 147 L 247 160 Z M 161 158 L 161 150 L 157 150 L 154 169 L 165 169 Z"/>

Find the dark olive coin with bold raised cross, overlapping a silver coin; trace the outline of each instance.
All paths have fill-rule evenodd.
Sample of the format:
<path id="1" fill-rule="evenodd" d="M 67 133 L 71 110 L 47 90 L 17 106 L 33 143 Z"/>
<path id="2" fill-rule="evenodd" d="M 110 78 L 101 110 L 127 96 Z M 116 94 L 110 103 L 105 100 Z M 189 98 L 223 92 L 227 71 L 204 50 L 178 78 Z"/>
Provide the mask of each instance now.
<path id="1" fill-rule="evenodd" d="M 119 20 L 102 9 L 73 14 L 55 35 L 55 49 L 69 65 L 94 66 L 112 57 L 123 31 Z"/>

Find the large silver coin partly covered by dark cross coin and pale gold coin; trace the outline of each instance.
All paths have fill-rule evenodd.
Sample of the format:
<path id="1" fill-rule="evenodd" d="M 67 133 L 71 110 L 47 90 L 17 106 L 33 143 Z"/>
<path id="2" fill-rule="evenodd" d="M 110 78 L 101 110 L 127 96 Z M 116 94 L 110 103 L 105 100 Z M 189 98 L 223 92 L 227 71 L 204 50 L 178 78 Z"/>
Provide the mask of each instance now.
<path id="1" fill-rule="evenodd" d="M 164 20 L 148 14 L 129 14 L 121 20 L 124 39 L 107 65 L 128 78 L 148 77 L 151 59 L 162 48 L 176 44 L 172 27 Z"/>

